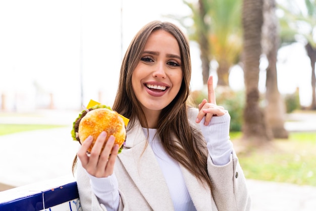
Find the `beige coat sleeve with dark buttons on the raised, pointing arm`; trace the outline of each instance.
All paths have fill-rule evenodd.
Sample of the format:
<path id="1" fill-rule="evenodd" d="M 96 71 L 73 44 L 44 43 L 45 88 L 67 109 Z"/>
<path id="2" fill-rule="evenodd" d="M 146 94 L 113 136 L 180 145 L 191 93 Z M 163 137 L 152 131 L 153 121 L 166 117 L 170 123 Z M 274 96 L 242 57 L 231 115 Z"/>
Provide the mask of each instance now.
<path id="1" fill-rule="evenodd" d="M 212 181 L 212 193 L 219 210 L 250 210 L 251 199 L 246 179 L 233 150 L 225 166 L 213 164 L 208 157 L 207 170 Z"/>

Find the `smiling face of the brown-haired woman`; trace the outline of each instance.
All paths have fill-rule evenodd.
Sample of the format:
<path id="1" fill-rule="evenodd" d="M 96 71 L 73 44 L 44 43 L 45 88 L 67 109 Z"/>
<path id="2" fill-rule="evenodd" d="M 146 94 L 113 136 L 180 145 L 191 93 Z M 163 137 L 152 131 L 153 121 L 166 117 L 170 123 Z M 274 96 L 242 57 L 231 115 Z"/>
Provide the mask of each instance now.
<path id="1" fill-rule="evenodd" d="M 133 91 L 145 113 L 161 111 L 176 97 L 182 82 L 180 48 L 169 32 L 150 34 L 132 74 Z"/>

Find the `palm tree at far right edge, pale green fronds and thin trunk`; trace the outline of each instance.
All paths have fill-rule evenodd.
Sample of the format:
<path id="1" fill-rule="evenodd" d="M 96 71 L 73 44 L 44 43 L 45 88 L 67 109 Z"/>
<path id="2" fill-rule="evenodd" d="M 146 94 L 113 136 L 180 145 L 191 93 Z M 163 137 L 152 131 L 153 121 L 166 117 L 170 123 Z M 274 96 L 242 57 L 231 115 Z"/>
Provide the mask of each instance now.
<path id="1" fill-rule="evenodd" d="M 305 42 L 305 49 L 311 65 L 312 100 L 310 109 L 316 110 L 316 1 L 305 0 L 302 8 L 297 5 L 297 2 L 291 0 L 279 5 L 279 8 L 285 14 L 281 18 L 283 23 L 281 26 L 286 25 L 286 31 L 290 32 L 285 40 L 291 42 L 292 40 L 301 41 L 303 39 Z"/>

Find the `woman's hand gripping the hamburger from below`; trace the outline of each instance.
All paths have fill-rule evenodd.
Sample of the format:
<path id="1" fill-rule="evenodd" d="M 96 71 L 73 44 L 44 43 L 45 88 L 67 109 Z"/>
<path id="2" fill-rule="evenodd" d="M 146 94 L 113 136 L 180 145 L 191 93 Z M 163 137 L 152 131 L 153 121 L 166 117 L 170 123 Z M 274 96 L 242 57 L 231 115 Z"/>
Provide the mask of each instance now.
<path id="1" fill-rule="evenodd" d="M 94 177 L 108 177 L 113 174 L 114 164 L 119 151 L 119 145 L 115 144 L 115 137 L 110 136 L 106 146 L 101 148 L 106 141 L 107 133 L 101 132 L 97 137 L 90 154 L 87 150 L 92 143 L 92 136 L 89 136 L 81 145 L 77 155 L 81 161 L 82 167 Z"/>

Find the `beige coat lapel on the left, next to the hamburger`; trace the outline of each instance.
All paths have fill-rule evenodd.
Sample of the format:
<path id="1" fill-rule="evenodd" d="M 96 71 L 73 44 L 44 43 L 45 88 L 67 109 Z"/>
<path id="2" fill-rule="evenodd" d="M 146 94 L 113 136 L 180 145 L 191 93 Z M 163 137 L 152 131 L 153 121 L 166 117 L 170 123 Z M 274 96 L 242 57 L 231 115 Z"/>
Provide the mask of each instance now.
<path id="1" fill-rule="evenodd" d="M 118 155 L 124 168 L 153 210 L 172 210 L 167 183 L 139 122 L 129 130 L 124 152 Z M 153 176 L 154 175 L 154 176 Z"/>

